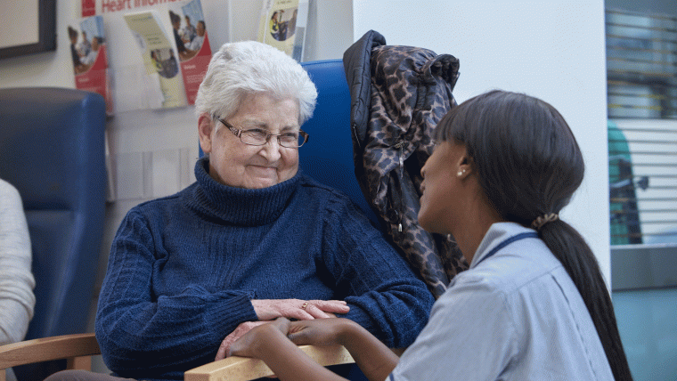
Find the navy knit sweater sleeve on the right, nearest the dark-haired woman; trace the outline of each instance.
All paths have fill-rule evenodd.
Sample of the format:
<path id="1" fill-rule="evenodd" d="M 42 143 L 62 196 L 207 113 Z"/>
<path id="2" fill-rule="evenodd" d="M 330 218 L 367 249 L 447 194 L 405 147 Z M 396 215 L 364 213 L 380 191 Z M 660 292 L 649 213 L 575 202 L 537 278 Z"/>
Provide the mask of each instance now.
<path id="1" fill-rule="evenodd" d="M 328 206 L 324 223 L 325 264 L 350 306 L 346 317 L 386 345 L 411 345 L 435 302 L 369 220 L 343 197 Z"/>

